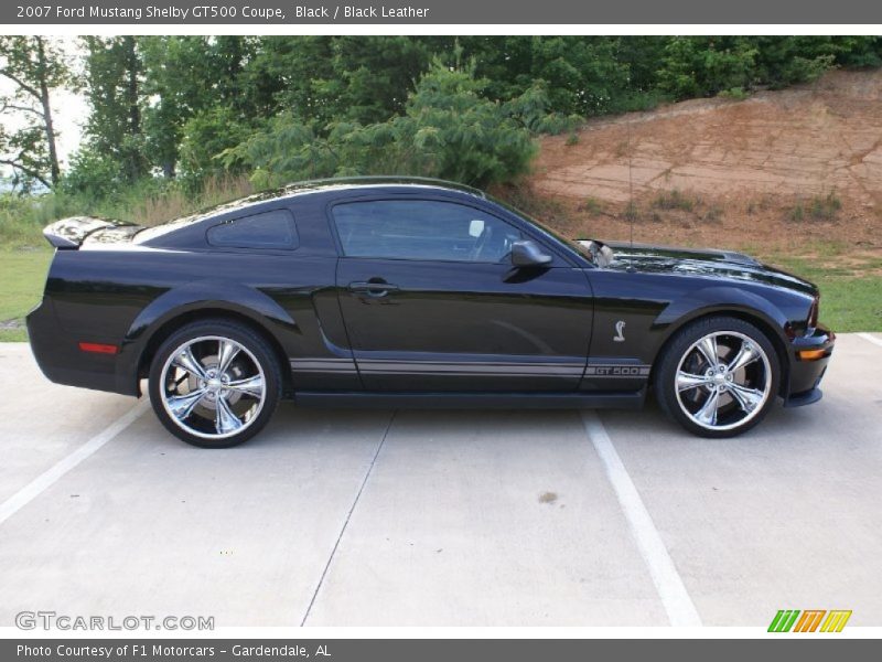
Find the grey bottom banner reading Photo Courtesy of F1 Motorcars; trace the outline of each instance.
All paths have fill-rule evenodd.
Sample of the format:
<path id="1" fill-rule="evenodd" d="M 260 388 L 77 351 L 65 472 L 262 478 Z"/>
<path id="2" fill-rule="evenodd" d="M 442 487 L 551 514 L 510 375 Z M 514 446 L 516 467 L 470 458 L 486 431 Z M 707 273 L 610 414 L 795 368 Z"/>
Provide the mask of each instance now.
<path id="1" fill-rule="evenodd" d="M 876 655 L 872 650 L 876 650 Z M 800 662 L 869 660 L 879 642 L 793 634 L 767 639 L 165 639 L 4 640 L 6 662 L 585 662 L 588 660 L 713 660 Z"/>

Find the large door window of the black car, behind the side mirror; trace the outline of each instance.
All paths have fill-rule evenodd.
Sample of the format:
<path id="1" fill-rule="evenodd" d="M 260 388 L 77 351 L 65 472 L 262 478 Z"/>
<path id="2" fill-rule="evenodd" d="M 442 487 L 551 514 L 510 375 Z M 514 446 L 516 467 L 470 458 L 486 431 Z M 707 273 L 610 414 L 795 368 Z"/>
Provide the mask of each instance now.
<path id="1" fill-rule="evenodd" d="M 521 238 L 505 221 L 453 202 L 349 202 L 332 213 L 349 257 L 497 263 Z"/>

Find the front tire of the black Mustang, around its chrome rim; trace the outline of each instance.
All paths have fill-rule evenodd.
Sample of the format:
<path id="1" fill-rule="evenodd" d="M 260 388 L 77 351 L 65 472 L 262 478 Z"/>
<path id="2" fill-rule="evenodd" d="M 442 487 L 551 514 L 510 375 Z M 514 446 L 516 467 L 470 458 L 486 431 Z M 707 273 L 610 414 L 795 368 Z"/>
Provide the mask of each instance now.
<path id="1" fill-rule="evenodd" d="M 712 346 L 719 348 L 718 357 L 725 351 L 738 355 L 738 351 L 744 345 L 749 352 L 755 351 L 757 357 L 740 369 L 740 372 L 730 373 L 725 367 L 720 367 L 734 359 L 727 355 L 722 357 L 724 360 L 717 362 L 714 369 L 707 361 L 707 354 L 695 346 L 706 338 L 712 338 Z M 742 345 L 736 345 L 736 341 Z M 678 388 L 681 364 L 685 374 L 680 377 Z M 718 376 L 717 371 L 723 374 Z M 690 385 L 697 383 L 689 380 L 693 373 L 707 382 Z M 730 374 L 732 378 L 729 377 Z M 741 380 L 743 384 L 740 383 Z M 763 380 L 767 380 L 767 388 Z M 774 406 L 781 385 L 781 361 L 772 341 L 750 322 L 733 317 L 703 318 L 677 332 L 656 365 L 653 385 L 662 410 L 690 433 L 709 438 L 734 437 L 756 426 Z M 711 403 L 709 401 L 713 397 L 714 389 L 719 391 L 717 399 Z M 760 392 L 763 393 L 762 401 L 756 395 Z M 711 409 L 712 424 L 706 418 Z M 720 412 L 723 413 L 722 417 Z"/>

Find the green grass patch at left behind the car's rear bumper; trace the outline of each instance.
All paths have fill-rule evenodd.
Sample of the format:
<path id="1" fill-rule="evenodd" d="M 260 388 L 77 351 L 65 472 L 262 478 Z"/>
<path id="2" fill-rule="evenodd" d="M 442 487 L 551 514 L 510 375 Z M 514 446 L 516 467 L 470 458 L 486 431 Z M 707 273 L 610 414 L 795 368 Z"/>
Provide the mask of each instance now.
<path id="1" fill-rule="evenodd" d="M 40 302 L 51 259 L 45 249 L 0 249 L 0 342 L 28 340 L 24 327 L 14 324 Z"/>

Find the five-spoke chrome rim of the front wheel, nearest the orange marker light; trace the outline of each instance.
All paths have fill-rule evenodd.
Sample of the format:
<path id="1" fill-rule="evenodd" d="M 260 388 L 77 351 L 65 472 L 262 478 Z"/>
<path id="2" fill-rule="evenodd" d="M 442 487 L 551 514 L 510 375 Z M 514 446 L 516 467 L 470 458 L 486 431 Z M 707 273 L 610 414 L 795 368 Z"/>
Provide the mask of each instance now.
<path id="1" fill-rule="evenodd" d="M 682 354 L 675 373 L 682 413 L 707 430 L 731 430 L 763 410 L 772 366 L 755 340 L 736 331 L 708 333 Z"/>

